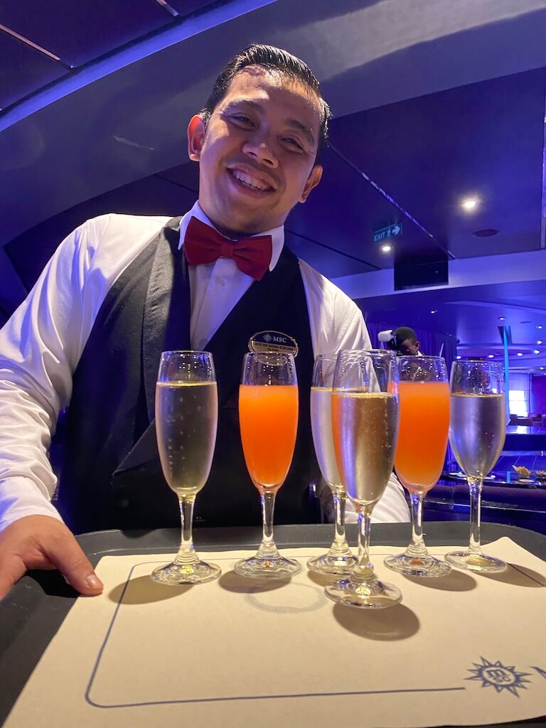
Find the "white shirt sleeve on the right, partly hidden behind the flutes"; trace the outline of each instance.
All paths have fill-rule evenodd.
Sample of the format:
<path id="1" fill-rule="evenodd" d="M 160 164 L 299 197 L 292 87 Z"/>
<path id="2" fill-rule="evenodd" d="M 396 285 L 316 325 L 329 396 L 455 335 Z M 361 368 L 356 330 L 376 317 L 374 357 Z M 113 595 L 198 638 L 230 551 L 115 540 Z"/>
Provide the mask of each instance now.
<path id="1" fill-rule="evenodd" d="M 341 349 L 371 349 L 368 329 L 355 302 L 309 264 L 304 261 L 299 264 L 315 357 L 336 354 Z M 355 521 L 355 509 L 349 500 L 346 511 L 347 522 Z M 394 472 L 373 508 L 371 520 L 373 523 L 407 523 L 410 520 L 404 491 Z"/>

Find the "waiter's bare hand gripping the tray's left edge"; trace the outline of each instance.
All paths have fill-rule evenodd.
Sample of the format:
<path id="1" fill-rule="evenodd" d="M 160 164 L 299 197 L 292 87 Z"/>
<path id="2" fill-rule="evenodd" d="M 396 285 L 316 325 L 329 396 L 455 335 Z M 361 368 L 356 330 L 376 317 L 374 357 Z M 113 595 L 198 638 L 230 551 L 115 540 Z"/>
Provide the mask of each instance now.
<path id="1" fill-rule="evenodd" d="M 0 533 L 0 599 L 27 569 L 59 569 L 85 596 L 103 590 L 90 561 L 64 523 L 47 515 L 28 515 Z"/>

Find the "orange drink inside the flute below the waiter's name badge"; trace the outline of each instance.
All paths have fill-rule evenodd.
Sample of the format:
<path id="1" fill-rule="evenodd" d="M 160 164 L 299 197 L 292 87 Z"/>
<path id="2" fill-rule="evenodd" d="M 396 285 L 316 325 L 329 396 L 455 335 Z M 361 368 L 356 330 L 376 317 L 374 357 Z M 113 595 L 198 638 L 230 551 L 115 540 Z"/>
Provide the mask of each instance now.
<path id="1" fill-rule="evenodd" d="M 298 387 L 241 384 L 239 419 L 250 478 L 258 490 L 277 491 L 288 474 L 294 454 Z"/>

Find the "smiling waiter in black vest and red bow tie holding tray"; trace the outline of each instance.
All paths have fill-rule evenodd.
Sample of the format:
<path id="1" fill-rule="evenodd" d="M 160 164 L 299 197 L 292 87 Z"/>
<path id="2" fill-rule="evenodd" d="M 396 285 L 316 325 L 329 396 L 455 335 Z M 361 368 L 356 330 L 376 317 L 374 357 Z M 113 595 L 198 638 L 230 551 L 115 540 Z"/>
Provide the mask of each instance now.
<path id="1" fill-rule="evenodd" d="M 276 521 L 317 518 L 309 498 L 313 358 L 371 346 L 357 306 L 284 247 L 288 213 L 323 173 L 317 154 L 329 116 L 301 60 L 260 45 L 237 54 L 189 122 L 189 157 L 199 163 L 194 207 L 176 218 L 83 223 L 0 331 L 0 596 L 25 569 L 52 567 L 80 592 L 100 593 L 70 529 L 176 525 L 153 422 L 165 349 L 206 349 L 215 361 L 218 437 L 195 520 L 246 525 L 261 518 L 240 445 L 242 357 L 260 332 L 297 342 L 300 422 Z M 67 406 L 61 518 L 50 502 L 47 451 Z M 374 516 L 408 520 L 394 478 Z"/>

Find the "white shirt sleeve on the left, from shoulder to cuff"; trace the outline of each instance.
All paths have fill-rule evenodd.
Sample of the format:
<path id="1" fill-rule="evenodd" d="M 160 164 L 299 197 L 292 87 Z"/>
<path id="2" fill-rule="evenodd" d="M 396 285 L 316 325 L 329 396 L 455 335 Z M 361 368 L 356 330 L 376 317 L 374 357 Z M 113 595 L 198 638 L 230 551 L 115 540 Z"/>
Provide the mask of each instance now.
<path id="1" fill-rule="evenodd" d="M 48 459 L 59 410 L 108 290 L 165 219 L 103 215 L 79 226 L 0 329 L 0 529 L 24 515 L 60 518 Z"/>

